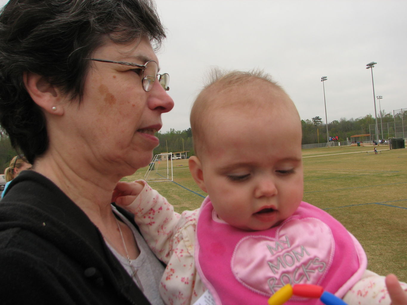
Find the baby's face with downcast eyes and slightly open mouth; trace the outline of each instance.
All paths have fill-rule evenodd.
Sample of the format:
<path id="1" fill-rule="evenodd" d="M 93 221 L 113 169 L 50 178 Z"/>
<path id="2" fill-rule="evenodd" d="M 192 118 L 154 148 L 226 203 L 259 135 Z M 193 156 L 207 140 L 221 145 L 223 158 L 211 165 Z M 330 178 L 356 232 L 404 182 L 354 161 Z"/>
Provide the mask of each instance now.
<path id="1" fill-rule="evenodd" d="M 200 155 L 204 188 L 219 218 L 234 227 L 268 229 L 302 200 L 300 119 L 292 108 L 276 108 L 211 113 Z"/>

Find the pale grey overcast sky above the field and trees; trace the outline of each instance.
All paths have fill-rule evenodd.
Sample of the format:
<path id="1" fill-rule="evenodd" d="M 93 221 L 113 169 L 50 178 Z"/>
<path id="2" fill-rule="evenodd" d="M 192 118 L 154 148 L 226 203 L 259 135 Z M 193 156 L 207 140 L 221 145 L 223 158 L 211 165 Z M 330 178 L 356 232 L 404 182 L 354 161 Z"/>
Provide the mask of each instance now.
<path id="1" fill-rule="evenodd" d="M 3 5 L 7 1 L 0 0 Z M 174 109 L 162 132 L 190 127 L 191 104 L 211 67 L 260 68 L 291 96 L 303 120 L 374 116 L 407 108 L 405 0 L 156 0 L 168 38 L 158 54 Z M 253 92 L 255 94 L 255 92 Z M 377 99 L 376 99 L 377 101 Z M 379 103 L 376 103 L 379 115 Z"/>

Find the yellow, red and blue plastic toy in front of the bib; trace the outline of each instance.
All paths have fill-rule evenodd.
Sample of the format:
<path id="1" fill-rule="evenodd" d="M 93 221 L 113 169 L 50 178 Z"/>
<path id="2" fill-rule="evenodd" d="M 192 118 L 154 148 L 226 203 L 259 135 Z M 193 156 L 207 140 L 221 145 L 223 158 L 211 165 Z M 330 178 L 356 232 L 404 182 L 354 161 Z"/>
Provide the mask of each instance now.
<path id="1" fill-rule="evenodd" d="M 324 288 L 317 285 L 287 284 L 270 296 L 269 305 L 282 305 L 291 298 L 291 296 L 302 296 L 306 298 L 319 298 L 325 305 L 347 305 L 334 294 L 324 291 Z"/>

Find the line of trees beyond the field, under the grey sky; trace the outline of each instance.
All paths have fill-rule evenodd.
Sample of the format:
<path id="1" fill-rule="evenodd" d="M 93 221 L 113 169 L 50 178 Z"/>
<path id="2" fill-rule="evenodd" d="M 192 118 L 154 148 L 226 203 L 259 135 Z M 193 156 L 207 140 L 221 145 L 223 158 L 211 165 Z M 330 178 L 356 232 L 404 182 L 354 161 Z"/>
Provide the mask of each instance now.
<path id="1" fill-rule="evenodd" d="M 380 114 L 379 114 L 380 115 Z M 392 113 L 385 113 L 384 110 L 381 113 L 382 123 L 394 122 L 394 120 L 401 121 L 401 116 L 397 115 L 393 117 Z M 407 121 L 407 111 L 403 112 L 403 120 Z M 378 118 L 380 124 L 380 118 Z M 346 141 L 346 138 L 350 139 L 351 135 L 360 135 L 370 133 L 369 125 L 375 124 L 375 119 L 371 114 L 364 117 L 350 120 L 341 118 L 333 120 L 328 123 L 328 133 L 331 137 L 338 137 L 338 141 Z M 326 124 L 324 124 L 322 118 L 315 116 L 311 119 L 301 120 L 302 125 L 302 144 L 313 144 L 326 142 Z M 171 128 L 165 133 L 160 131 L 156 133 L 158 139 L 160 139 L 160 145 L 153 151 L 154 155 L 160 153 L 177 153 L 188 151 L 186 155 L 194 155 L 194 148 L 192 142 L 191 129 L 185 129 L 183 131 L 176 131 Z M 16 155 L 16 151 L 11 147 L 9 137 L 4 133 L 0 133 L 0 172 L 4 171 L 4 168 L 9 166 L 10 160 Z"/>

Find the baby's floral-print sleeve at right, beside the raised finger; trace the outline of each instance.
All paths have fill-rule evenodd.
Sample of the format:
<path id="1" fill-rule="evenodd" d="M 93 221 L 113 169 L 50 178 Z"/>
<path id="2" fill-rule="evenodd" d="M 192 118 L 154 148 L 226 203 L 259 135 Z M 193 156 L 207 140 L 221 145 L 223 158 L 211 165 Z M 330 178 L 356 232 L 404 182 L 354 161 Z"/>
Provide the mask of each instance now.
<path id="1" fill-rule="evenodd" d="M 400 283 L 407 290 L 406 283 Z M 387 292 L 385 277 L 366 270 L 362 278 L 345 294 L 343 300 L 348 305 L 390 305 L 392 303 Z"/>

